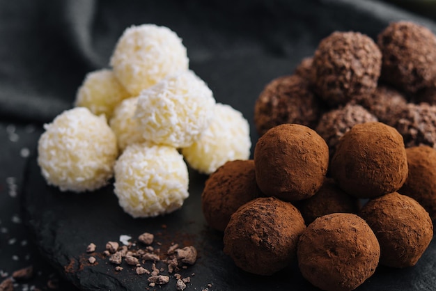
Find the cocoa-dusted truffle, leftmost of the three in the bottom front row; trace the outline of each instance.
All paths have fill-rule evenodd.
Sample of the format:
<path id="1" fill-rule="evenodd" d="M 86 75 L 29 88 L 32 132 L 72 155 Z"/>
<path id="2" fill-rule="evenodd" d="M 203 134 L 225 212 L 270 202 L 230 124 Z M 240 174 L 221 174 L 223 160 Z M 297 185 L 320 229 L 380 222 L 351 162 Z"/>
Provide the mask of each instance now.
<path id="1" fill-rule="evenodd" d="M 224 253 L 246 272 L 271 275 L 297 251 L 306 226 L 297 208 L 277 198 L 256 198 L 242 205 L 224 231 Z"/>

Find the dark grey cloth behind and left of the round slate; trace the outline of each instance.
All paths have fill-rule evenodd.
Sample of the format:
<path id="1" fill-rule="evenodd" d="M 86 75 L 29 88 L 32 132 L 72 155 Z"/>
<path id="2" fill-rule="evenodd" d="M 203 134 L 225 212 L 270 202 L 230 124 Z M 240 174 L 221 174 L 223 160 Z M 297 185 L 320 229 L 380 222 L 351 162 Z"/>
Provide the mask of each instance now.
<path id="1" fill-rule="evenodd" d="M 20 221 L 26 160 L 35 155 L 42 124 L 72 107 L 86 73 L 108 68 L 126 27 L 154 23 L 176 31 L 199 76 L 215 72 L 205 81 L 217 100 L 242 109 L 333 31 L 375 38 L 389 22 L 403 19 L 436 32 L 428 13 L 371 0 L 0 0 L 0 281 L 27 265 L 35 276 L 17 283 L 17 290 L 47 289 L 49 280 L 61 278 Z M 234 61 L 239 58 L 246 61 Z M 223 75 L 232 81 L 223 84 Z M 247 82 L 252 86 L 241 90 Z M 251 122 L 251 115 L 245 117 Z"/>

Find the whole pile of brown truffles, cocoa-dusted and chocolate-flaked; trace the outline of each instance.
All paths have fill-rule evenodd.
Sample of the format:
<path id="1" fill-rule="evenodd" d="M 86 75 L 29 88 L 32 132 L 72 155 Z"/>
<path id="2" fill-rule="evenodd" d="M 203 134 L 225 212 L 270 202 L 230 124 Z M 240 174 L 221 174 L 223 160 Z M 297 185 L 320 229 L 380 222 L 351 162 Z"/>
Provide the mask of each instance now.
<path id="1" fill-rule="evenodd" d="M 292 262 L 322 290 L 412 267 L 436 219 L 436 36 L 336 31 L 260 93 L 254 159 L 205 182 L 202 210 L 245 272 Z"/>

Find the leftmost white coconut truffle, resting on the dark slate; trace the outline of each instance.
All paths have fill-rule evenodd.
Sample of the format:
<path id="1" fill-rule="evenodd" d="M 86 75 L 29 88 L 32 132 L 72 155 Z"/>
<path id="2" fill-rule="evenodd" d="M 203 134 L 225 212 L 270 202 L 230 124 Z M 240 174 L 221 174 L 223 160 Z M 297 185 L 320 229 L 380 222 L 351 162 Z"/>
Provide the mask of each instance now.
<path id="1" fill-rule="evenodd" d="M 48 184 L 61 191 L 92 191 L 112 178 L 118 147 L 104 115 L 75 107 L 44 128 L 38 141 L 38 164 Z"/>

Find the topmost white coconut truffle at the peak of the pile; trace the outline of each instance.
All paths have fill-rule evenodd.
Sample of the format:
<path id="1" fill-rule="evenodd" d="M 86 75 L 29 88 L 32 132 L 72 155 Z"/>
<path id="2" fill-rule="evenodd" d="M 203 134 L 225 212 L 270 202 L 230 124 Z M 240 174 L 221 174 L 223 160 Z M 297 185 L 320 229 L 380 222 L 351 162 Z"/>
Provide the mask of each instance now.
<path id="1" fill-rule="evenodd" d="M 167 74 L 189 67 L 182 40 L 168 27 L 155 24 L 127 28 L 116 44 L 110 63 L 121 84 L 134 96 Z"/>

